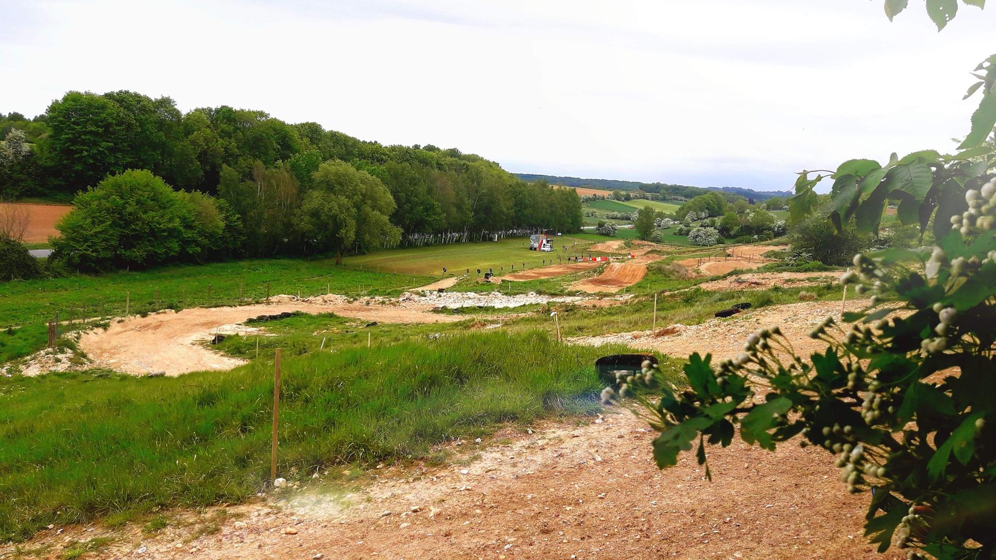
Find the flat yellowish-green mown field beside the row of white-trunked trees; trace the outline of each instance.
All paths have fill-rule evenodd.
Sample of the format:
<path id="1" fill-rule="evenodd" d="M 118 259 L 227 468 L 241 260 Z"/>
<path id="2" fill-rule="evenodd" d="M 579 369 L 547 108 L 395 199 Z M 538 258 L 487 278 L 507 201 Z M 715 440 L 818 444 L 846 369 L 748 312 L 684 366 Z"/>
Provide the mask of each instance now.
<path id="1" fill-rule="evenodd" d="M 555 250 L 550 253 L 530 251 L 527 237 L 500 239 L 496 242 L 450 243 L 429 247 L 388 249 L 351 257 L 346 260 L 346 266 L 351 269 L 363 267 L 364 270 L 417 274 L 435 278 L 442 276 L 443 267 L 446 267 L 447 276 L 465 274 L 468 269 L 474 274 L 478 268 L 482 272 L 493 268 L 495 273 L 498 273 L 503 266 L 505 271 L 510 271 L 512 265 L 519 270 L 522 263 L 526 263 L 530 268 L 543 266 L 549 264 L 550 259 L 556 261 L 558 255 L 580 254 L 590 244 L 588 239 L 577 234 L 553 237 L 551 242 Z M 568 247 L 567 253 L 563 252 L 565 245 Z"/>

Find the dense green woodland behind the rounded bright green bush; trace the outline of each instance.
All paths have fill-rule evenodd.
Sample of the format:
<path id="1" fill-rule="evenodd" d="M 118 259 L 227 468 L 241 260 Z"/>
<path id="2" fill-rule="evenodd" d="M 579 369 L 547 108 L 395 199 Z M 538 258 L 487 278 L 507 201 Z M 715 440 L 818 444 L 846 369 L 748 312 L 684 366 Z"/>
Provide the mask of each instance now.
<path id="1" fill-rule="evenodd" d="M 382 145 L 227 106 L 183 114 L 169 98 L 133 92 L 70 92 L 34 119 L 0 114 L 0 140 L 5 199 L 70 201 L 128 169 L 149 171 L 128 180 L 158 196 L 151 176 L 208 196 L 213 204 L 200 200 L 200 207 L 212 206 L 207 214 L 242 234 L 240 246 L 226 242 L 224 250 L 198 251 L 198 259 L 367 251 L 582 225 L 572 189 L 527 182 L 457 148 Z M 69 221 L 86 230 L 88 220 Z"/>

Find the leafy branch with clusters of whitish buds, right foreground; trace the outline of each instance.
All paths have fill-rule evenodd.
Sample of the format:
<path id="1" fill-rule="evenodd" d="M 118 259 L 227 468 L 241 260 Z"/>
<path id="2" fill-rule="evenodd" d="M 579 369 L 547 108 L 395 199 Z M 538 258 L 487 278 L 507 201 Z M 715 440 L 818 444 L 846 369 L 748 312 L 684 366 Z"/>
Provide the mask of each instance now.
<path id="1" fill-rule="evenodd" d="M 779 327 L 747 340 L 714 365 L 694 354 L 688 389 L 649 364 L 621 379 L 660 432 L 661 468 L 698 439 L 774 449 L 802 435 L 836 455 L 850 491 L 872 491 L 866 535 L 941 559 L 996 552 L 996 178 L 964 194 L 968 209 L 932 249 L 885 249 L 855 257 L 857 284 L 871 304 L 828 317 L 811 337 L 827 343 L 809 360 Z M 603 397 L 612 400 L 613 390 Z M 706 466 L 706 475 L 711 473 Z"/>

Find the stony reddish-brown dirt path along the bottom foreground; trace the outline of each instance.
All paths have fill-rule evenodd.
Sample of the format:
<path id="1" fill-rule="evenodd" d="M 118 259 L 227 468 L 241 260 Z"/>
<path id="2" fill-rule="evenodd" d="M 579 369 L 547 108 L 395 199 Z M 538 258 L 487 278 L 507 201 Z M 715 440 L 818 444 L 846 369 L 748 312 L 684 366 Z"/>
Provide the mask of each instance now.
<path id="1" fill-rule="evenodd" d="M 872 552 L 862 536 L 870 497 L 849 494 L 833 457 L 820 449 L 788 442 L 770 453 L 739 439 L 709 447 L 709 482 L 690 452 L 658 470 L 653 437 L 640 420 L 610 409 L 587 425 L 549 423 L 531 434 L 506 430 L 492 438 L 497 444 L 451 445 L 477 455 L 466 465 L 385 467 L 359 489 L 285 490 L 272 504 L 229 508 L 232 517 L 209 535 L 194 533 L 201 523 L 157 535 L 71 527 L 30 544 L 50 543 L 50 558 L 63 543 L 106 534 L 114 544 L 94 557 L 902 557 Z"/>

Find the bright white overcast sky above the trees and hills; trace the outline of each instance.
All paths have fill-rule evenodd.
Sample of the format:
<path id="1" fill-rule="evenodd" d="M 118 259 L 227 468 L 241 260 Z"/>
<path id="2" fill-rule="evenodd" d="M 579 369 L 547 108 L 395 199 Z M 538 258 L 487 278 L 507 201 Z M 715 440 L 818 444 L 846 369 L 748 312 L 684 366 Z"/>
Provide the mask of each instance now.
<path id="1" fill-rule="evenodd" d="M 996 7 L 881 0 L 0 0 L 0 112 L 69 90 L 230 105 L 517 172 L 785 189 L 950 150 Z"/>

